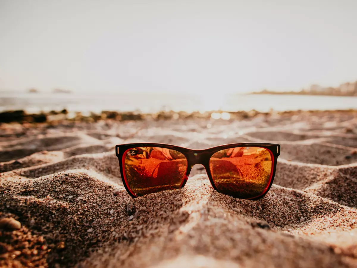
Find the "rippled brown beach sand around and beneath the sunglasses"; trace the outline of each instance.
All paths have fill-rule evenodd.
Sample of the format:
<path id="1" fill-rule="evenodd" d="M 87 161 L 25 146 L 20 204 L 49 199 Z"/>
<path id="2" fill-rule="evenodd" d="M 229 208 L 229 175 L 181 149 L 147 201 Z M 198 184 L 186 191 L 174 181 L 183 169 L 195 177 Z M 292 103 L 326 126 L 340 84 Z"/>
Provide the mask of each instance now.
<path id="1" fill-rule="evenodd" d="M 274 185 L 242 200 L 202 166 L 132 199 L 114 147 L 279 142 Z M 357 112 L 0 126 L 0 267 L 357 267 Z M 17 226 L 19 227 L 19 226 Z"/>

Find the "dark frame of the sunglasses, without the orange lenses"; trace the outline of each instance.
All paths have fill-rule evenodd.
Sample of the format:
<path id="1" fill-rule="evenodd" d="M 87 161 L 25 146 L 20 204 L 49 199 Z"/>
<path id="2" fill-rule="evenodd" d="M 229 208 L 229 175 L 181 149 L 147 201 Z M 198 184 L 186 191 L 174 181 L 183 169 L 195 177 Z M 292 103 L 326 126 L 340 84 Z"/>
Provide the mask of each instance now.
<path id="1" fill-rule="evenodd" d="M 250 200 L 258 200 L 263 198 L 266 193 L 269 191 L 271 185 L 273 184 L 274 177 L 275 177 L 275 171 L 276 171 L 276 164 L 278 160 L 278 156 L 280 155 L 280 144 L 275 144 L 275 143 L 231 143 L 231 144 L 224 144 L 220 146 L 215 146 L 207 149 L 202 149 L 202 150 L 193 150 L 193 149 L 188 149 L 185 147 L 180 147 L 176 145 L 171 145 L 171 144 L 163 144 L 163 143 L 129 143 L 129 144 L 120 144 L 115 146 L 115 153 L 116 156 L 119 159 L 119 165 L 120 165 L 120 174 L 121 174 L 121 179 L 123 181 L 124 187 L 126 191 L 131 195 L 131 197 L 136 198 L 138 195 L 133 193 L 131 189 L 129 188 L 129 185 L 127 185 L 127 182 L 125 181 L 124 177 L 124 159 L 125 159 L 125 153 L 127 150 L 137 148 L 137 147 L 159 147 L 159 148 L 167 148 L 171 150 L 176 150 L 183 155 L 185 155 L 187 159 L 187 171 L 186 171 L 186 176 L 183 178 L 183 182 L 181 184 L 181 188 L 183 188 L 187 182 L 188 175 L 190 175 L 191 169 L 193 165 L 196 164 L 202 164 L 203 167 L 205 167 L 208 178 L 210 179 L 210 182 L 212 184 L 212 187 L 219 193 L 220 191 L 217 189 L 215 182 L 213 181 L 211 170 L 210 170 L 210 159 L 213 154 L 220 150 L 224 149 L 229 149 L 233 147 L 260 147 L 260 148 L 265 148 L 267 149 L 271 156 L 272 156 L 272 162 L 273 162 L 273 170 L 272 170 L 272 175 L 270 179 L 269 185 L 266 187 L 264 192 L 257 197 L 253 198 L 248 198 Z"/>

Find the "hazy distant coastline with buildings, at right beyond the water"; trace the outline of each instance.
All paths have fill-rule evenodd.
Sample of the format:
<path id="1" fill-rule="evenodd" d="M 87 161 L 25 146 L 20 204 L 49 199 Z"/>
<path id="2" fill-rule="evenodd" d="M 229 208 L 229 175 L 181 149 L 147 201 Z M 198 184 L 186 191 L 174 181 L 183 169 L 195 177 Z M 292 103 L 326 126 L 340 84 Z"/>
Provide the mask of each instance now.
<path id="1" fill-rule="evenodd" d="M 344 83 L 337 88 L 324 88 L 319 85 L 311 85 L 309 89 L 300 91 L 274 91 L 264 89 L 251 94 L 272 94 L 272 95 L 317 95 L 317 96 L 357 96 L 357 81 L 353 83 Z"/>

